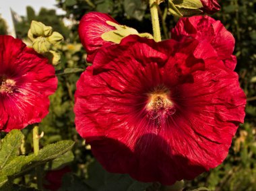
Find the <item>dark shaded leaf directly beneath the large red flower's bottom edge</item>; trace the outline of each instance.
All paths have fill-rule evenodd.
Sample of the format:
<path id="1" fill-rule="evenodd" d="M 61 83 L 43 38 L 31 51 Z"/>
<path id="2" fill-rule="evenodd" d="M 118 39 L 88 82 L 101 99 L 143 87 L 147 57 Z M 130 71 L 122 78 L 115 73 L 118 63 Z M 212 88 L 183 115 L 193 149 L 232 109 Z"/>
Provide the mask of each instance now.
<path id="1" fill-rule="evenodd" d="M 143 191 L 146 190 L 152 183 L 138 182 L 133 180 L 127 174 L 112 174 L 103 169 L 100 163 L 94 161 L 88 167 L 88 180 L 86 183 L 92 190 L 97 191 Z"/>

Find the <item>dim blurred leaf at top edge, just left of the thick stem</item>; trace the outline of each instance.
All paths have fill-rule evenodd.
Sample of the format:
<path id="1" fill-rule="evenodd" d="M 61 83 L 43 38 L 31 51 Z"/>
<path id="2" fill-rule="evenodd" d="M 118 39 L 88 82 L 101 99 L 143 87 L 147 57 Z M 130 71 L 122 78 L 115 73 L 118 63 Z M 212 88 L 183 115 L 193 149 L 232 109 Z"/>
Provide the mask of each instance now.
<path id="1" fill-rule="evenodd" d="M 129 17 L 141 21 L 145 15 L 147 4 L 138 0 L 125 0 L 123 2 L 123 7 L 125 9 L 125 13 L 127 13 Z"/>

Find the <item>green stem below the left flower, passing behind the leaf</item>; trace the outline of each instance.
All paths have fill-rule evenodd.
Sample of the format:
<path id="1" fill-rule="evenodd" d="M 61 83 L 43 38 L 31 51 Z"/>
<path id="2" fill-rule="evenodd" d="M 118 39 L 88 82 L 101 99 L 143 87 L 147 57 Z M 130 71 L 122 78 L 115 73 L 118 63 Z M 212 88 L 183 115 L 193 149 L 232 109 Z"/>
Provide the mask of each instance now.
<path id="1" fill-rule="evenodd" d="M 40 136 L 38 135 L 39 127 L 36 125 L 33 128 L 33 147 L 34 147 L 34 154 L 38 155 L 39 153 L 39 139 Z M 42 172 L 41 167 L 36 167 L 36 182 L 38 190 L 42 190 Z"/>

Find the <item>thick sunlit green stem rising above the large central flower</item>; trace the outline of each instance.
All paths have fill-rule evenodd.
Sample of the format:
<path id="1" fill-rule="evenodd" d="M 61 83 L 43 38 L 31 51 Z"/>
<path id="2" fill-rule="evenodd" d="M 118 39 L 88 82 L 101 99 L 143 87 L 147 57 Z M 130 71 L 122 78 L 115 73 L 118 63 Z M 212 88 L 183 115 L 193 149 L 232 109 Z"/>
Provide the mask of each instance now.
<path id="1" fill-rule="evenodd" d="M 158 3 L 156 0 L 150 0 L 150 13 L 152 18 L 154 40 L 156 42 L 161 41 L 160 24 L 158 18 Z"/>

